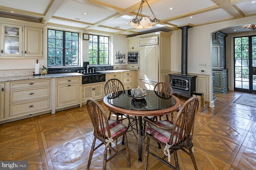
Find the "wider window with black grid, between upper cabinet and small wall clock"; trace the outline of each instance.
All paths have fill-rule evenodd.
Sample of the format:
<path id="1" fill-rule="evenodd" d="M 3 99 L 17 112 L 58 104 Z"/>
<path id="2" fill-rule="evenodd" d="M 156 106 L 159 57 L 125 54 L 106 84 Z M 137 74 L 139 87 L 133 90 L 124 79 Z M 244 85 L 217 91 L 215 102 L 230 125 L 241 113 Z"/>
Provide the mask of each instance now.
<path id="1" fill-rule="evenodd" d="M 78 66 L 78 33 L 48 29 L 48 66 Z"/>

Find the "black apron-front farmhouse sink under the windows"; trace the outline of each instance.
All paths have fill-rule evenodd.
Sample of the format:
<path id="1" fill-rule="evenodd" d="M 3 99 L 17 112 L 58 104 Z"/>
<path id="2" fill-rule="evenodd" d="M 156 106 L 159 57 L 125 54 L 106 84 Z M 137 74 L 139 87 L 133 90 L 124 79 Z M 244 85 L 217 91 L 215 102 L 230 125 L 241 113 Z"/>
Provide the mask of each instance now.
<path id="1" fill-rule="evenodd" d="M 100 72 L 84 73 L 82 76 L 82 84 L 105 82 L 106 74 Z"/>

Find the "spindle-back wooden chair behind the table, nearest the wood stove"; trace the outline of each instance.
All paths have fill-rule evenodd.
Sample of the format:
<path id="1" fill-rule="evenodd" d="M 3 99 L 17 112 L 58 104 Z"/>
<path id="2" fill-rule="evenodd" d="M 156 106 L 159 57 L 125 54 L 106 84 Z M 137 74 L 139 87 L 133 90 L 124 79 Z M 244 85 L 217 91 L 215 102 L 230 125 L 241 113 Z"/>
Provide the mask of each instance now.
<path id="1" fill-rule="evenodd" d="M 168 93 L 168 94 L 172 94 L 172 87 L 170 86 L 170 84 L 166 83 L 166 82 L 159 82 L 154 86 L 154 91 L 158 91 L 158 92 L 162 92 L 162 93 Z M 164 94 L 160 97 L 165 97 Z M 159 119 L 161 120 L 162 116 L 159 116 Z M 158 120 L 157 117 L 156 121 Z M 169 120 L 168 115 L 166 115 L 166 119 Z M 173 113 L 171 113 L 171 121 L 173 122 Z"/>

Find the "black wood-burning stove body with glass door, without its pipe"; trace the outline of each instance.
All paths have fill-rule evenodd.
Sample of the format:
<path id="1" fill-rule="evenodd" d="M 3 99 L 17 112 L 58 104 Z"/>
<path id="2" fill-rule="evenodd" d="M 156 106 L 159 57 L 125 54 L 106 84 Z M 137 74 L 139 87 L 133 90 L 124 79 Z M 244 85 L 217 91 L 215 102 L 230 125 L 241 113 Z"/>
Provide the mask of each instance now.
<path id="1" fill-rule="evenodd" d="M 169 74 L 170 85 L 173 94 L 180 94 L 188 98 L 192 97 L 192 93 L 196 91 L 195 75 Z"/>

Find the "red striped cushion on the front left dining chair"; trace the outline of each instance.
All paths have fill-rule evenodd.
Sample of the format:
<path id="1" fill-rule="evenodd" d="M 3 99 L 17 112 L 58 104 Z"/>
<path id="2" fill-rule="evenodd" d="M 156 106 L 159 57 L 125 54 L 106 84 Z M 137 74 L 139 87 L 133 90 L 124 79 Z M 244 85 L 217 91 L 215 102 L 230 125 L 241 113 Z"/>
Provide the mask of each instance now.
<path id="1" fill-rule="evenodd" d="M 108 124 L 109 124 L 109 128 L 110 128 L 111 137 L 115 137 L 115 136 L 119 135 L 120 133 L 123 133 L 124 131 L 127 130 L 126 125 L 124 125 L 120 121 L 115 121 L 115 120 L 110 119 L 110 120 L 108 120 Z M 106 137 L 108 137 L 108 132 L 107 132 L 105 122 L 104 122 L 104 129 L 105 129 Z"/>

